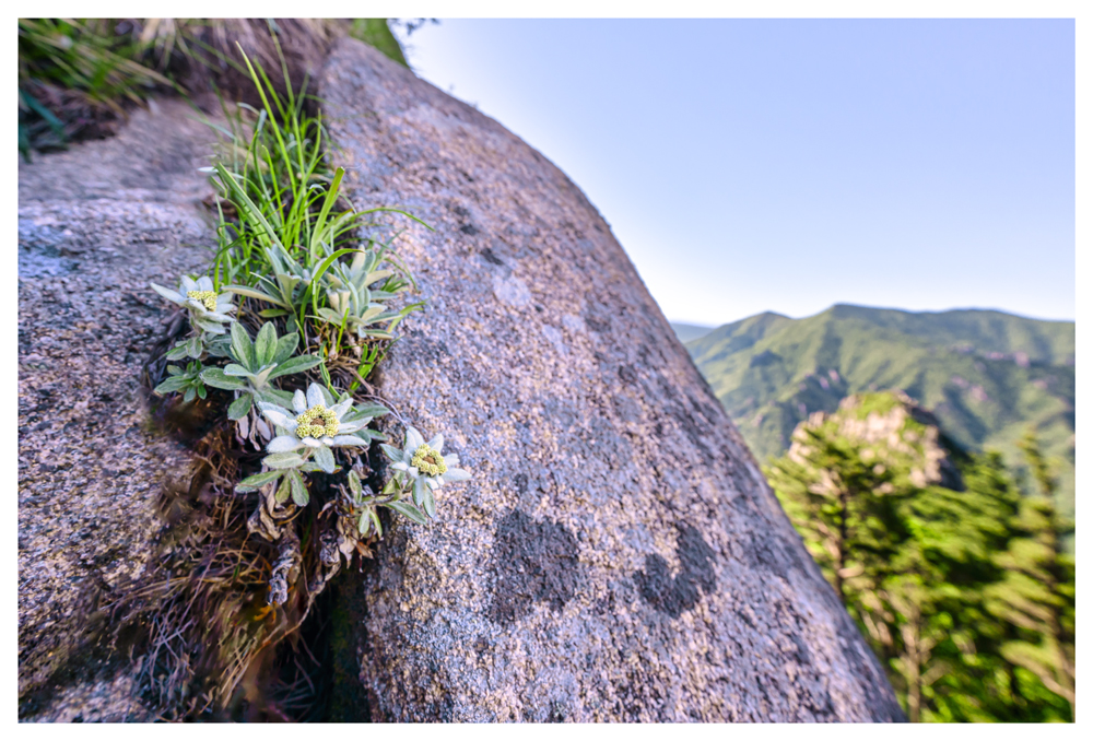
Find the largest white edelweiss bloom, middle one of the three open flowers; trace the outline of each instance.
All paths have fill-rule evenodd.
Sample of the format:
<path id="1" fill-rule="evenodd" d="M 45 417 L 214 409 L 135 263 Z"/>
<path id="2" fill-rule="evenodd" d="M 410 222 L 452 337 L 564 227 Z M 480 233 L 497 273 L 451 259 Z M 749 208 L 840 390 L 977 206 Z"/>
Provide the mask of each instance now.
<path id="1" fill-rule="evenodd" d="M 334 456 L 330 448 L 368 444 L 349 433 L 355 433 L 368 420 L 342 422 L 342 417 L 353 408 L 353 399 L 346 398 L 327 408 L 322 387 L 312 384 L 307 396 L 297 390 L 292 397 L 295 414 L 283 407 L 266 401 L 258 402 L 258 409 L 278 427 L 278 436 L 270 440 L 266 450 L 271 454 L 293 452 L 301 448 L 314 451 L 315 462 L 327 473 L 333 473 Z M 305 451 L 306 455 L 307 451 Z"/>

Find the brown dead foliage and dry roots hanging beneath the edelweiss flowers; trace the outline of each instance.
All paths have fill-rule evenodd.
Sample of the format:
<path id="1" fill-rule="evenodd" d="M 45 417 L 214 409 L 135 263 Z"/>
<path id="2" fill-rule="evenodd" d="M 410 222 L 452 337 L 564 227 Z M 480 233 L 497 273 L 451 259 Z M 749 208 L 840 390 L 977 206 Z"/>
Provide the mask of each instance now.
<path id="1" fill-rule="evenodd" d="M 165 320 L 144 366 L 145 390 L 186 331 L 184 315 Z M 263 452 L 226 419 L 227 395 L 185 405 L 148 398 L 152 419 L 188 444 L 195 464 L 158 496 L 163 527 L 149 571 L 113 589 L 102 607 L 143 703 L 163 720 L 318 715 L 329 672 L 315 647 L 326 628 L 305 624 L 330 579 L 354 556 L 360 564 L 372 555 L 374 538 L 360 540 L 339 504 L 344 492 L 322 474 L 313 474 L 312 486 L 322 507 L 278 505 L 272 487 L 236 493 Z M 339 455 L 371 478 L 366 459 Z"/>

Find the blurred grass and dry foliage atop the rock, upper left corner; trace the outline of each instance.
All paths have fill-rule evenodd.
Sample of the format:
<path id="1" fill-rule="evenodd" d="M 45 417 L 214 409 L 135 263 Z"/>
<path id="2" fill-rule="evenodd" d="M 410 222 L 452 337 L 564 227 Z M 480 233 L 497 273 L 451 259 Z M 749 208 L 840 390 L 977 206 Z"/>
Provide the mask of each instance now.
<path id="1" fill-rule="evenodd" d="M 421 21 L 390 22 L 409 34 Z M 333 39 L 345 34 L 406 64 L 388 23 L 388 19 L 20 19 L 20 153 L 30 161 L 35 150 L 111 136 L 125 111 L 157 90 L 234 94 L 240 82 L 249 82 L 247 70 L 235 61 L 237 43 L 274 72 L 281 56 L 277 37 L 298 69 L 321 62 Z M 274 82 L 285 87 L 280 80 Z"/>

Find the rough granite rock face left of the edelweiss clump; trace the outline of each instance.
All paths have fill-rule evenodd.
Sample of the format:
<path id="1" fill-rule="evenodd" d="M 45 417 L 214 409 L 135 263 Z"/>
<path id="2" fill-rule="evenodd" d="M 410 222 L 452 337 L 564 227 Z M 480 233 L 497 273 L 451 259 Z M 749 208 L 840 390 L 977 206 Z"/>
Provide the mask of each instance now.
<path id="1" fill-rule="evenodd" d="M 192 116 L 161 102 L 115 139 L 20 163 L 21 717 L 142 717 L 126 670 L 83 638 L 143 568 L 152 503 L 188 462 L 150 431 L 139 373 L 169 315 L 149 281 L 203 270 L 215 244 L 197 172 L 214 137 Z"/>

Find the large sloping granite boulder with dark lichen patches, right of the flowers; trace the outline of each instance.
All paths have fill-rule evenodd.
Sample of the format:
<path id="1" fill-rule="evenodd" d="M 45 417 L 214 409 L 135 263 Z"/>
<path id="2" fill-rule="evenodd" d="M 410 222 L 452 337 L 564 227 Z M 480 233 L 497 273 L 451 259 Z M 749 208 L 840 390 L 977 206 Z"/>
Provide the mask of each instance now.
<path id="1" fill-rule="evenodd" d="M 357 207 L 424 314 L 383 393 L 473 472 L 356 585 L 374 720 L 897 720 L 883 672 L 619 243 L 545 157 L 346 39 Z M 407 225 L 406 222 L 401 222 Z"/>

